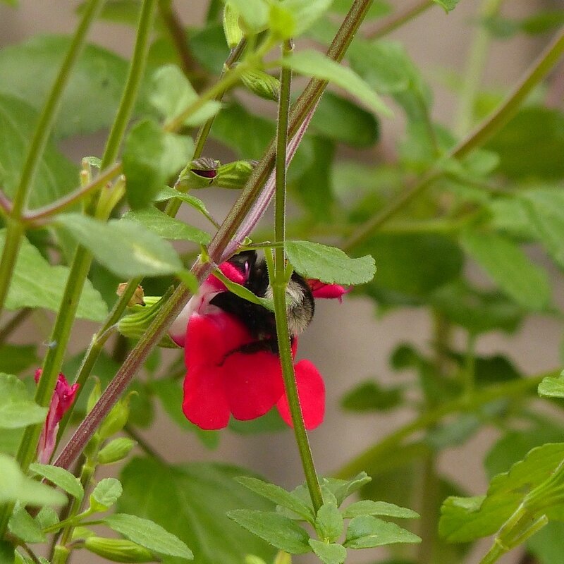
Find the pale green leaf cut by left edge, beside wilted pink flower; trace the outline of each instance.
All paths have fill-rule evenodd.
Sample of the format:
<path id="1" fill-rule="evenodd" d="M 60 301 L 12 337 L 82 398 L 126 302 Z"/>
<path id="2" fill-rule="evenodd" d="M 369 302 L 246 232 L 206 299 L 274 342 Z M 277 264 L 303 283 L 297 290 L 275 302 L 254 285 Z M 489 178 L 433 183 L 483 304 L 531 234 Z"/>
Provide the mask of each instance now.
<path id="1" fill-rule="evenodd" d="M 0 398 L 0 428 L 19 429 L 47 417 L 47 407 L 39 407 L 16 376 L 0 372 Z"/>

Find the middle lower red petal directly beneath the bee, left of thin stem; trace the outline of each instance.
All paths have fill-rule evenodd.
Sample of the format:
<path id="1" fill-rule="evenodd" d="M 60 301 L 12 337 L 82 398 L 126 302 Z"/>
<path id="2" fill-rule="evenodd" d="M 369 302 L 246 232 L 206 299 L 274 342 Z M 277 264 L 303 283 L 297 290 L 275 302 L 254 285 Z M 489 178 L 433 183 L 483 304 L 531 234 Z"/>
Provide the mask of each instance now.
<path id="1" fill-rule="evenodd" d="M 233 417 L 242 421 L 261 417 L 284 393 L 278 355 L 266 350 L 229 355 L 223 378 Z"/>

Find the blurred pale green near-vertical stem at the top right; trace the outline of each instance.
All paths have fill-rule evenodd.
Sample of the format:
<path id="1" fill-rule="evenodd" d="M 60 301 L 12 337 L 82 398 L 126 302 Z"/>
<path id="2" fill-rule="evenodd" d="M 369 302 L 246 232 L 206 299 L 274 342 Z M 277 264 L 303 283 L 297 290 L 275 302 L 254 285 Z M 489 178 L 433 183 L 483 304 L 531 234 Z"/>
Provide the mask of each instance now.
<path id="1" fill-rule="evenodd" d="M 462 92 L 458 106 L 458 118 L 455 121 L 457 136 L 465 135 L 474 123 L 474 104 L 479 91 L 484 66 L 486 65 L 491 35 L 482 19 L 491 18 L 498 13 L 503 0 L 483 0 L 480 6 L 479 21 L 470 45 L 470 56 L 465 71 Z"/>

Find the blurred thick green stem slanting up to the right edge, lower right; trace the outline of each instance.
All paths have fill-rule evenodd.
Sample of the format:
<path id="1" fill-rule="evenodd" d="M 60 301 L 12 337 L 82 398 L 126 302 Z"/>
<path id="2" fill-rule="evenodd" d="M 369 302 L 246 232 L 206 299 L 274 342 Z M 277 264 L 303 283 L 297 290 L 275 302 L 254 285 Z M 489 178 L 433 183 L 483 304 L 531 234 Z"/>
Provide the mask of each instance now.
<path id="1" fill-rule="evenodd" d="M 487 388 L 475 391 L 469 398 L 460 397 L 450 400 L 439 405 L 434 410 L 428 411 L 415 419 L 414 421 L 404 425 L 397 431 L 388 435 L 386 439 L 376 443 L 376 445 L 368 448 L 353 460 L 350 460 L 345 466 L 341 467 L 333 475 L 338 478 L 347 478 L 358 474 L 367 467 L 372 467 L 375 460 L 379 460 L 384 455 L 391 453 L 398 448 L 400 443 L 411 434 L 422 429 L 428 429 L 432 425 L 441 421 L 446 415 L 456 412 L 472 412 L 477 410 L 484 403 L 489 403 L 499 399 L 513 399 L 529 393 L 539 386 L 541 380 L 546 376 L 558 376 L 559 370 L 542 374 L 534 378 L 525 380 L 517 380 L 508 382 L 508 384 L 498 384 L 496 386 L 488 386 Z"/>

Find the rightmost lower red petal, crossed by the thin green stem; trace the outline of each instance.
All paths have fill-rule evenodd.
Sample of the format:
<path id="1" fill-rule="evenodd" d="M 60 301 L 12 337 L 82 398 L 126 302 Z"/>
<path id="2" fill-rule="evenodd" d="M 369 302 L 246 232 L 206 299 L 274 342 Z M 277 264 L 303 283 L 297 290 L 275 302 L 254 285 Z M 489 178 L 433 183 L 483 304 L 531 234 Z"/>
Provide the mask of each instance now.
<path id="1" fill-rule="evenodd" d="M 302 407 L 302 415 L 306 429 L 315 429 L 323 422 L 325 415 L 325 384 L 321 374 L 309 360 L 300 360 L 295 364 L 295 380 L 298 384 L 298 397 Z M 292 417 L 290 416 L 290 406 L 284 394 L 278 403 L 278 412 L 290 427 Z"/>

